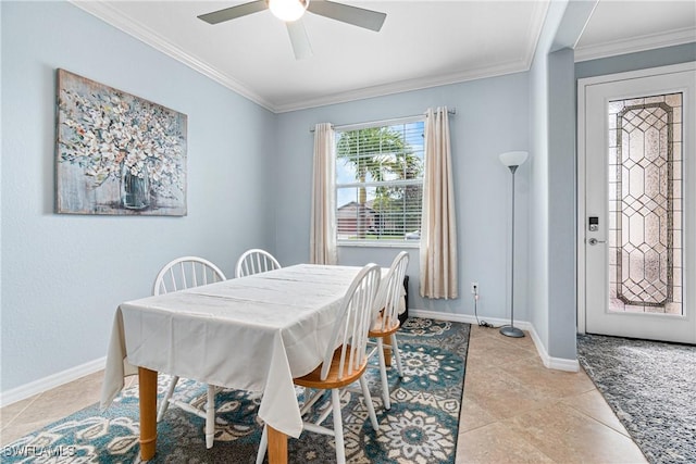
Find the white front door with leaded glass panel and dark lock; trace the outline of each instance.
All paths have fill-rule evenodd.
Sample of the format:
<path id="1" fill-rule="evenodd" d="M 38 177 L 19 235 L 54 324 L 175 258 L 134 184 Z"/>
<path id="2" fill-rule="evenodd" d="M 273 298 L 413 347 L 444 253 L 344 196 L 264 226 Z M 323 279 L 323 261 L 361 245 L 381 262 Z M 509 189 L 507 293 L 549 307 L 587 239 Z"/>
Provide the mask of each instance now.
<path id="1" fill-rule="evenodd" d="M 696 343 L 694 106 L 695 63 L 579 81 L 580 331 Z"/>

